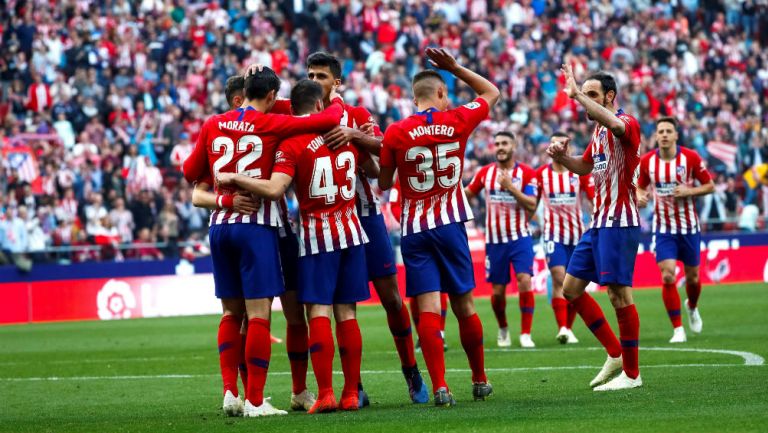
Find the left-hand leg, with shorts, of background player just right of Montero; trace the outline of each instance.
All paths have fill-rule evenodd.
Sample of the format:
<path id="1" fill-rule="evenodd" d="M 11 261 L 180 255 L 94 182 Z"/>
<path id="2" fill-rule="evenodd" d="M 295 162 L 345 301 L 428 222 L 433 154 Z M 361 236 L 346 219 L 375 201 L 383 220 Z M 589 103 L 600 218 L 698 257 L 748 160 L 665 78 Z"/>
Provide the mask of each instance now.
<path id="1" fill-rule="evenodd" d="M 496 344 L 509 347 L 512 345 L 507 322 L 507 284 L 511 280 L 509 244 L 485 244 L 485 280 L 491 283 L 491 308 L 499 325 Z"/>

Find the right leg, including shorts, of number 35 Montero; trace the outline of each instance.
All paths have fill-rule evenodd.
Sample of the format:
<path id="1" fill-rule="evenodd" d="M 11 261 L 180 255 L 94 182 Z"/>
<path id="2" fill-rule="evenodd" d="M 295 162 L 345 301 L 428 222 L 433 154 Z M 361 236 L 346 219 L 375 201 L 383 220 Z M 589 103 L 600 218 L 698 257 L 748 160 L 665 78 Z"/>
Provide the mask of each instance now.
<path id="1" fill-rule="evenodd" d="M 459 322 L 461 346 L 472 370 L 472 396 L 475 400 L 484 400 L 493 393 L 493 388 L 485 374 L 483 325 L 472 298 L 475 277 L 466 228 L 463 224 L 450 224 L 438 230 L 436 261 L 440 280 L 451 298 L 451 309 Z"/>

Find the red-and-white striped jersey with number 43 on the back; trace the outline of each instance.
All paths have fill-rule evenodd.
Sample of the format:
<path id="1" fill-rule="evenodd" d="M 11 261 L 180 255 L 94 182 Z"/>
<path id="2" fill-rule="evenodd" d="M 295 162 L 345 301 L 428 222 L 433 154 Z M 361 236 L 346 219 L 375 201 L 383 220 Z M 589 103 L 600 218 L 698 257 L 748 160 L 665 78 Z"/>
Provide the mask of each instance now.
<path id="1" fill-rule="evenodd" d="M 343 250 L 368 242 L 355 208 L 358 162 L 367 153 L 347 143 L 330 150 L 321 135 L 305 134 L 280 144 L 276 173 L 294 180 L 299 200 L 299 255 Z"/>

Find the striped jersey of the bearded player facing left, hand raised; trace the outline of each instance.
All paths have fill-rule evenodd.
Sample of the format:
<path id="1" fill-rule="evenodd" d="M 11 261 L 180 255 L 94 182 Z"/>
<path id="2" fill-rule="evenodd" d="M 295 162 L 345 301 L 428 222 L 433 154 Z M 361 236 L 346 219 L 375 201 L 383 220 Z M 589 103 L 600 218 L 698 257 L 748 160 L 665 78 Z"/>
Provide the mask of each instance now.
<path id="1" fill-rule="evenodd" d="M 595 182 L 592 228 L 636 227 L 640 225 L 637 212 L 637 175 L 640 165 L 640 124 L 637 119 L 619 110 L 616 117 L 624 122 L 621 137 L 599 123 L 582 159 L 592 163 Z"/>

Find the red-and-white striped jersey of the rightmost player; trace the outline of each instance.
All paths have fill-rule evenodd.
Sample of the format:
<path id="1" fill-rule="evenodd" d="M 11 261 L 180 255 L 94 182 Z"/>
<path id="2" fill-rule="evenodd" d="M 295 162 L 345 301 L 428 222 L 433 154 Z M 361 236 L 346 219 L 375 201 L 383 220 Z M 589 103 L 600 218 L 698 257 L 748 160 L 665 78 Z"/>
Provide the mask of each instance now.
<path id="1" fill-rule="evenodd" d="M 691 234 L 699 231 L 699 216 L 694 197 L 675 198 L 678 185 L 694 186 L 712 180 L 698 153 L 685 147 L 677 148 L 670 161 L 652 150 L 640 160 L 638 186 L 653 185 L 653 231 L 655 233 Z"/>

